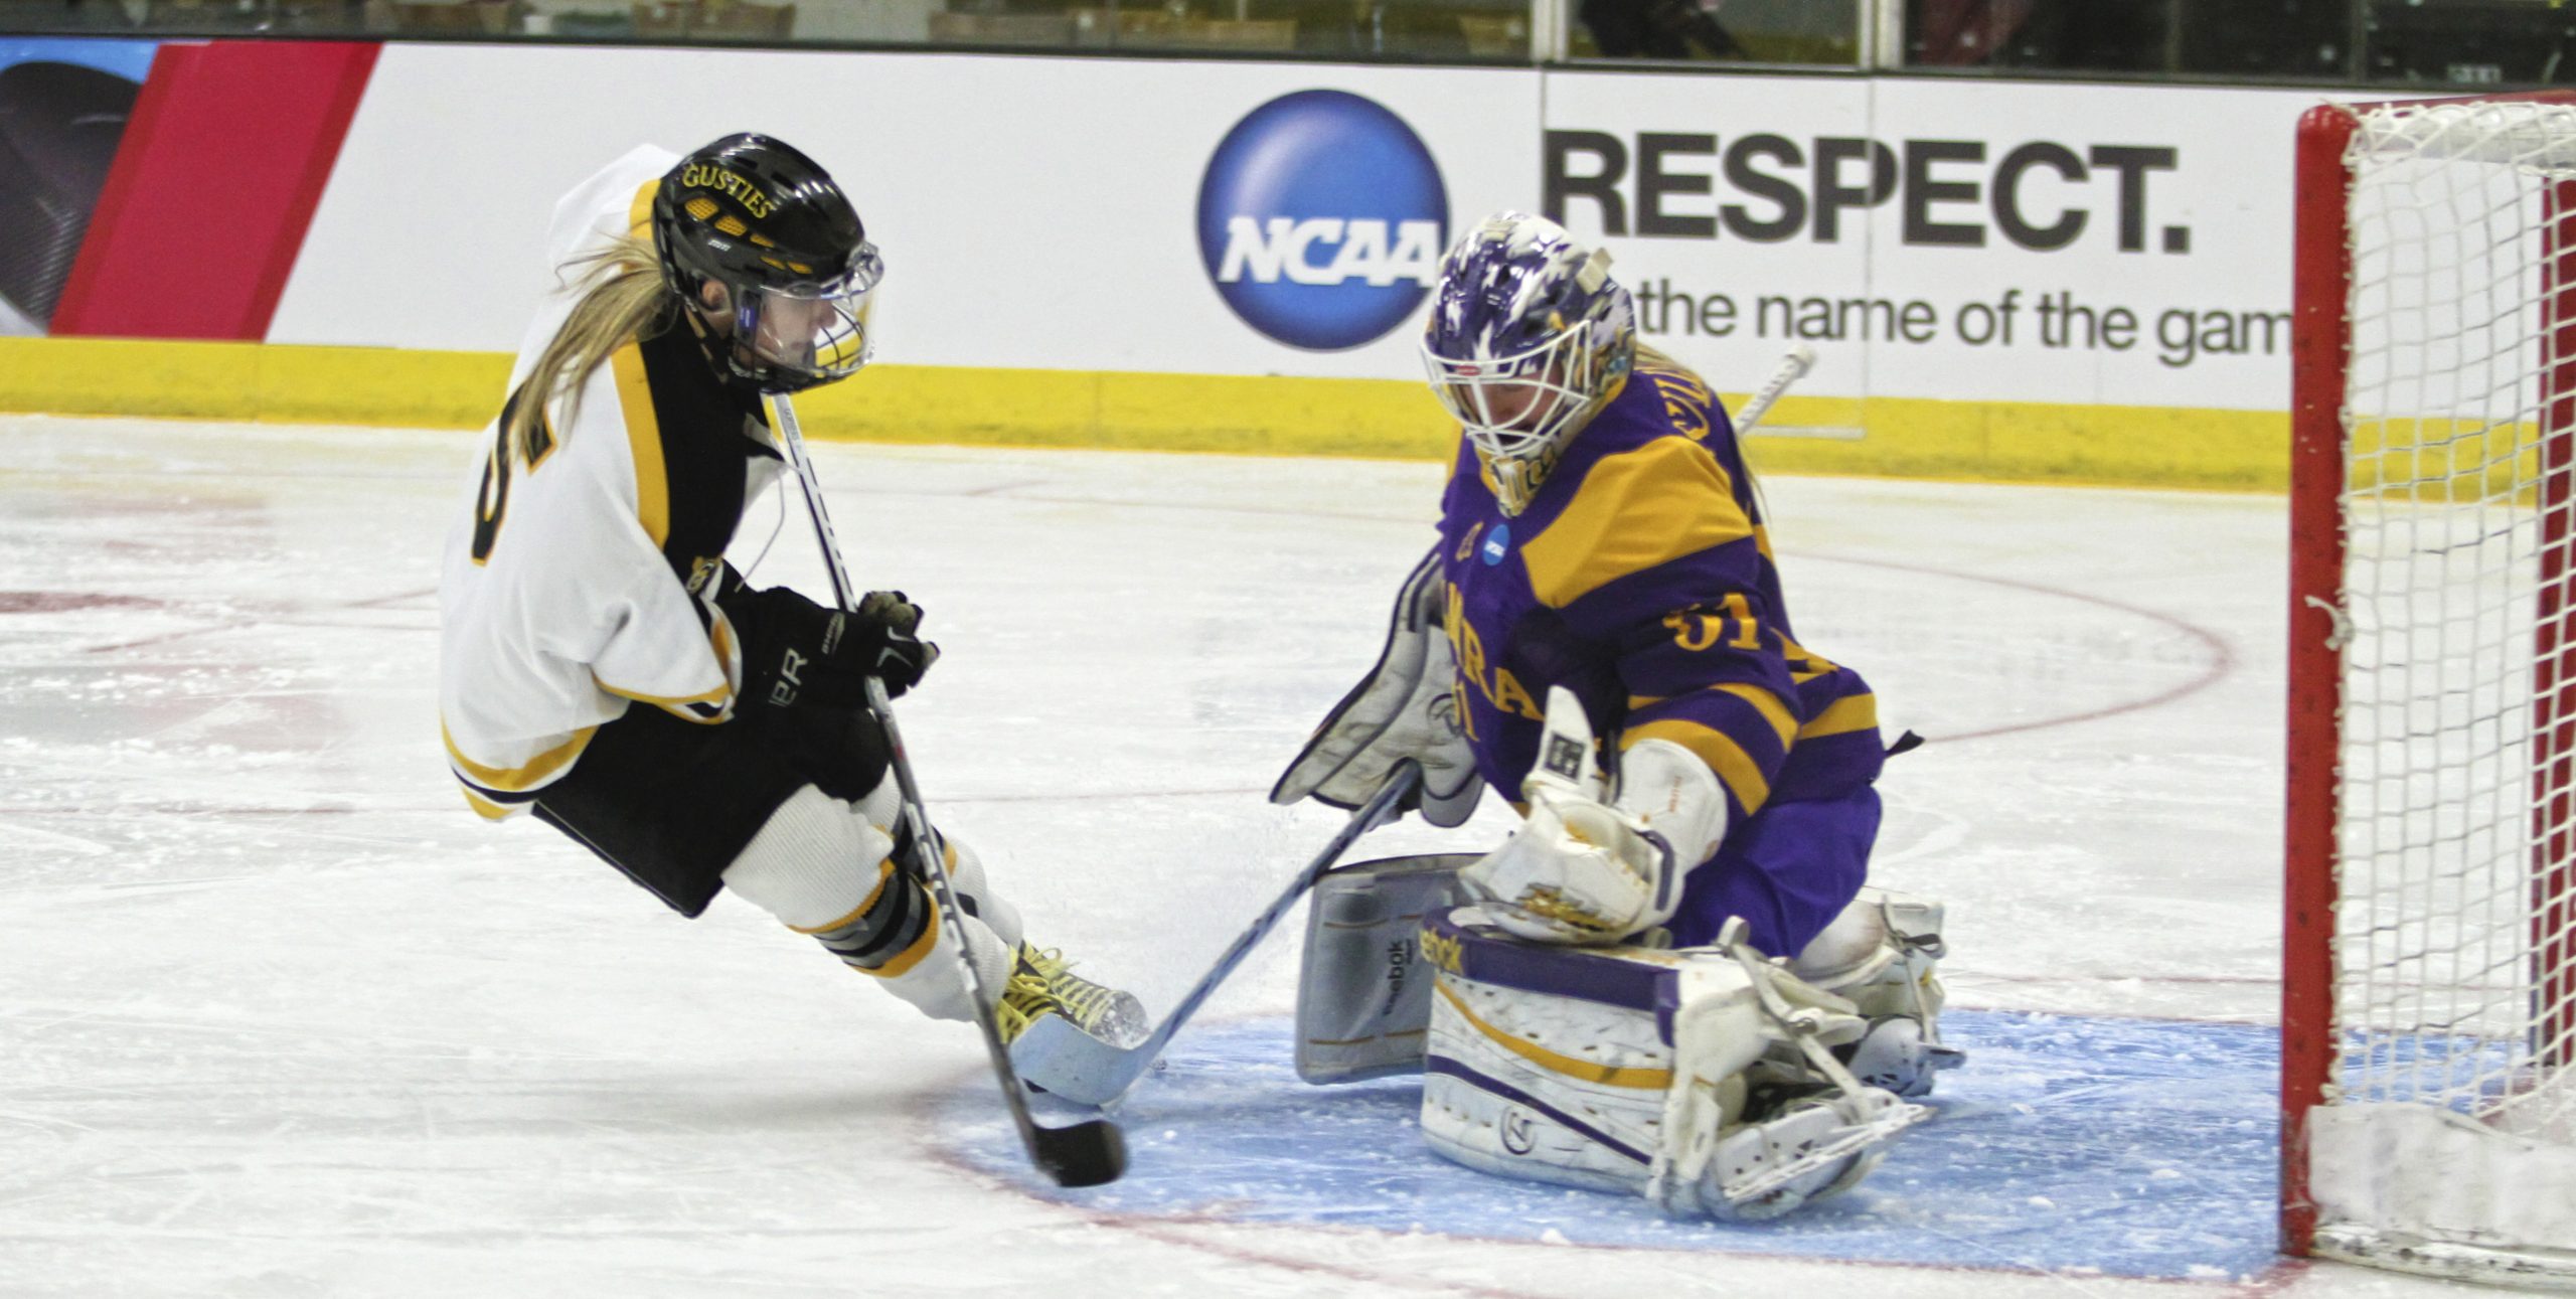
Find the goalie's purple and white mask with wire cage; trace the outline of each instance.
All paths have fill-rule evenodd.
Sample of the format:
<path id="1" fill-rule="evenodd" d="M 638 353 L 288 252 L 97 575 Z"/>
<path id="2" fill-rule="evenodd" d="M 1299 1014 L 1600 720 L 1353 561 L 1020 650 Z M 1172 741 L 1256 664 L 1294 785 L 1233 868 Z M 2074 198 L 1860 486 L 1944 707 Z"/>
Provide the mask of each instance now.
<path id="1" fill-rule="evenodd" d="M 1610 253 L 1577 245 L 1566 227 L 1499 211 L 1440 258 L 1422 363 L 1497 472 L 1543 472 L 1618 394 L 1633 358 L 1633 307 L 1610 278 Z"/>

